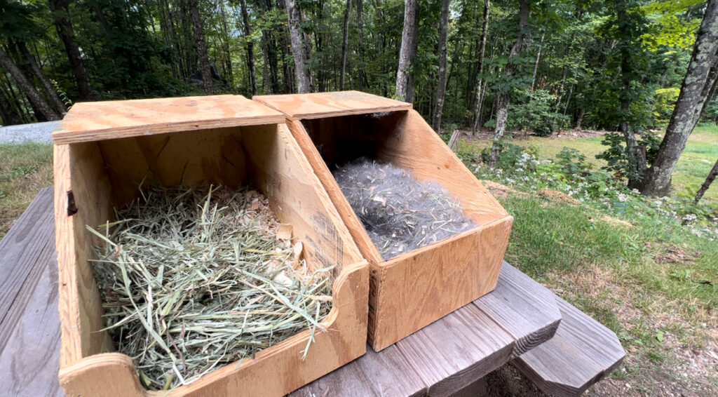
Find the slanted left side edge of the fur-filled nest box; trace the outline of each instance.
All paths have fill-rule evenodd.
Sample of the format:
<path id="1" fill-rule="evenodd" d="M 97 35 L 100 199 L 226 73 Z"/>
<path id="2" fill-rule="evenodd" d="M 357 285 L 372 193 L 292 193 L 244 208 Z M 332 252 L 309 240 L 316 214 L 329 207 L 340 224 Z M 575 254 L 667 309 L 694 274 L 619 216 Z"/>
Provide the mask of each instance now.
<path id="1" fill-rule="evenodd" d="M 359 218 L 355 215 L 354 210 L 349 205 L 349 202 L 344 197 L 336 179 L 332 176 L 332 172 L 330 172 L 327 167 L 325 160 L 322 159 L 322 154 L 320 154 L 317 150 L 317 146 L 315 146 L 314 142 L 312 142 L 312 139 L 309 137 L 309 134 L 307 134 L 307 130 L 304 129 L 302 122 L 287 120 L 286 125 L 289 127 L 289 131 L 292 133 L 292 136 L 302 149 L 304 156 L 309 161 L 309 164 L 314 170 L 314 174 L 317 175 L 320 182 L 322 182 L 322 185 L 325 187 L 330 200 L 335 206 L 337 212 L 339 212 L 343 223 L 348 227 L 349 233 L 351 233 L 359 251 L 362 253 L 364 258 L 372 264 L 372 266 L 376 266 L 376 263 L 382 261 L 381 253 L 379 253 L 379 250 L 369 238 L 364 226 L 361 224 Z"/>

